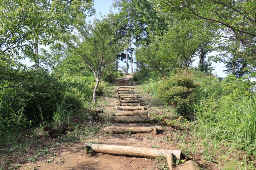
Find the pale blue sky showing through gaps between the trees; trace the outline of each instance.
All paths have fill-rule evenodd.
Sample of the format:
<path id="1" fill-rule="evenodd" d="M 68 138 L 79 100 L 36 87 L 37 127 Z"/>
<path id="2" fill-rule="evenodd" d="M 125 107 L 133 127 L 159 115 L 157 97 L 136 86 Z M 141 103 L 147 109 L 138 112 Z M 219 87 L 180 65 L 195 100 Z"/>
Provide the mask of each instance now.
<path id="1" fill-rule="evenodd" d="M 95 8 L 95 16 L 100 18 L 100 13 L 102 15 L 107 15 L 109 14 L 110 12 L 110 7 L 113 5 L 113 1 L 112 0 L 94 0 L 94 8 Z M 118 9 L 115 9 L 112 7 L 111 9 L 112 12 L 114 13 L 118 13 Z M 89 20 L 92 20 L 95 16 L 92 16 L 92 17 L 88 17 L 87 19 Z M 132 44 L 133 46 L 133 44 Z M 39 48 L 45 48 L 45 49 L 49 49 L 49 47 L 42 47 L 39 45 Z M 133 46 L 134 47 L 134 46 Z M 211 55 L 216 55 L 216 51 L 213 51 L 212 53 L 210 53 L 208 56 L 211 56 Z M 134 57 L 134 54 L 133 54 L 133 58 Z M 134 60 L 135 61 L 135 60 Z M 196 58 L 196 61 L 193 63 L 192 66 L 198 66 L 198 61 L 199 61 L 199 58 L 197 57 Z M 33 65 L 34 63 L 31 63 L 28 59 L 26 60 L 23 60 L 23 63 L 24 64 L 27 64 L 28 66 L 31 66 Z M 119 62 L 119 67 L 121 66 L 126 66 L 126 64 L 122 61 Z M 214 67 L 215 70 L 213 70 L 212 73 L 214 73 L 215 75 L 219 76 L 219 77 L 226 77 L 227 75 L 223 72 L 223 70 L 226 70 L 225 68 L 225 65 L 224 63 L 212 63 L 212 66 Z M 119 68 L 120 69 L 120 68 Z M 136 63 L 133 63 L 133 71 L 135 71 L 136 69 Z M 121 70 L 121 69 L 120 69 Z M 131 66 L 128 70 L 128 73 L 131 73 Z"/>

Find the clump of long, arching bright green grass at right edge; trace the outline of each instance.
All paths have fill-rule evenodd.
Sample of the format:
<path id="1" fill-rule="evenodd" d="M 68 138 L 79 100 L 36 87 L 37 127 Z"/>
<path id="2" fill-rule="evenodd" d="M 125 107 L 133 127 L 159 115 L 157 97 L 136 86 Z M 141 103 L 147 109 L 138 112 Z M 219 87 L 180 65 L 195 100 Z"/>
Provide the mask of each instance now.
<path id="1" fill-rule="evenodd" d="M 201 100 L 195 115 L 206 136 L 251 143 L 256 139 L 256 95 Z"/>

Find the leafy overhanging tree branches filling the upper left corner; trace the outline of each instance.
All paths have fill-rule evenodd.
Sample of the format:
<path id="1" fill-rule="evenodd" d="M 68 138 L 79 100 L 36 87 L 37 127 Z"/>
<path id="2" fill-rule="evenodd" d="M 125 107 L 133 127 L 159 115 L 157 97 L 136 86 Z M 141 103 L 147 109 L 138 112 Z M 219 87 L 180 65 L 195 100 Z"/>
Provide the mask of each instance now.
<path id="1" fill-rule="evenodd" d="M 26 66 L 20 60 L 29 57 L 39 63 L 39 55 L 34 53 L 38 44 L 50 45 L 61 40 L 63 33 L 72 30 L 73 19 L 87 10 L 93 13 L 91 0 L 1 1 L 0 88 L 22 85 L 24 79 L 19 79 L 18 74 Z"/>

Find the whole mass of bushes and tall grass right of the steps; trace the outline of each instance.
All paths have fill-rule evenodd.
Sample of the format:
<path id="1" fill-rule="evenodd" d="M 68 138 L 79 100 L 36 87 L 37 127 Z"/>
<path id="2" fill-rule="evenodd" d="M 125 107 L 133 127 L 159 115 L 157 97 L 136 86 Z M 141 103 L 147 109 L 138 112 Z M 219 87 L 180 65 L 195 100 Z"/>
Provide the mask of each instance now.
<path id="1" fill-rule="evenodd" d="M 143 73 L 135 73 L 135 77 L 136 74 Z M 216 147 L 225 146 L 226 150 L 222 153 L 209 151 L 211 157 L 217 153 L 227 157 L 239 150 L 244 156 L 229 161 L 227 157 L 224 166 L 228 169 L 255 168 L 255 161 L 252 161 L 256 156 L 255 82 L 234 75 L 221 79 L 196 69 L 181 70 L 163 78 L 151 75 L 148 81 L 140 81 L 144 81 L 144 91 L 163 101 L 165 107 L 172 109 L 172 113 L 189 120 L 183 123 L 192 125 L 191 135 L 197 136 L 197 142 L 211 141 Z M 177 119 L 164 117 L 158 116 L 157 119 L 167 125 L 177 122 Z M 202 145 L 206 148 L 206 145 Z"/>

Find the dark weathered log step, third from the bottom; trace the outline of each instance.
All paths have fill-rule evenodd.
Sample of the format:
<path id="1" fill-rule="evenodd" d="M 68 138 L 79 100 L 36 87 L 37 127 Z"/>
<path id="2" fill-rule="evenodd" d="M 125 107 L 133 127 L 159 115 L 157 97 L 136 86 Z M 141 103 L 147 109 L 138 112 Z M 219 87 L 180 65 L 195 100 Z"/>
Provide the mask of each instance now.
<path id="1" fill-rule="evenodd" d="M 134 117 L 111 117 L 111 123 L 155 123 L 154 119 L 150 118 L 134 118 Z"/>

